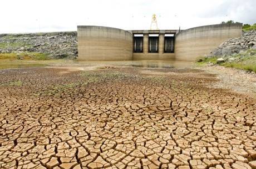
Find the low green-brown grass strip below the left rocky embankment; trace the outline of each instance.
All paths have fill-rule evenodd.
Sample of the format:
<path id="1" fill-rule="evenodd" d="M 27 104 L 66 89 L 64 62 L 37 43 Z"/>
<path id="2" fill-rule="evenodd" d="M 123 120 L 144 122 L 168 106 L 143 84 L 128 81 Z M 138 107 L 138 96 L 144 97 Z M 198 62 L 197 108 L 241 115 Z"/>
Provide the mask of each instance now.
<path id="1" fill-rule="evenodd" d="M 23 52 L 23 53 L 0 53 L 0 59 L 11 60 L 49 60 L 45 53 Z"/>

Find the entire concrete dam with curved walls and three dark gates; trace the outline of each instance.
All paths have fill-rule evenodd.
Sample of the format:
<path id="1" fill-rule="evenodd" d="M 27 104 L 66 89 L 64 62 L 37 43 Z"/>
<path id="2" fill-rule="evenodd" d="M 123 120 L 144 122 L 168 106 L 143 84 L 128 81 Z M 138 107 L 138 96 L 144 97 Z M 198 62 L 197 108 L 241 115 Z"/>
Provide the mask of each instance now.
<path id="1" fill-rule="evenodd" d="M 186 30 L 122 30 L 78 25 L 78 60 L 194 61 L 225 40 L 240 37 L 242 26 L 235 23 Z"/>

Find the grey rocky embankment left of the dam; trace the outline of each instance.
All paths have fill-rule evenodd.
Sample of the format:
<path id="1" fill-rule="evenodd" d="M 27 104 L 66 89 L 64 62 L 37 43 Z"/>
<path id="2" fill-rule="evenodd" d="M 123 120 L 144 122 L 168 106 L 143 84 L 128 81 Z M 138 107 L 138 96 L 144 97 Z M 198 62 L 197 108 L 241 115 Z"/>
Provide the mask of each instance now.
<path id="1" fill-rule="evenodd" d="M 45 53 L 51 58 L 77 57 L 77 32 L 0 34 L 0 53 Z"/>

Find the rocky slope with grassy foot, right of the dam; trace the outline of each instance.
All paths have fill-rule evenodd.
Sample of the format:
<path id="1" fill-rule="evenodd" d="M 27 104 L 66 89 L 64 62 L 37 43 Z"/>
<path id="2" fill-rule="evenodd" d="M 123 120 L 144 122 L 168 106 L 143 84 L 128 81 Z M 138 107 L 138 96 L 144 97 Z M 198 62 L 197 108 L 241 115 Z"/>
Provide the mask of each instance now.
<path id="1" fill-rule="evenodd" d="M 199 64 L 226 66 L 256 73 L 256 30 L 243 32 L 241 37 L 228 39 L 209 55 L 198 60 Z"/>

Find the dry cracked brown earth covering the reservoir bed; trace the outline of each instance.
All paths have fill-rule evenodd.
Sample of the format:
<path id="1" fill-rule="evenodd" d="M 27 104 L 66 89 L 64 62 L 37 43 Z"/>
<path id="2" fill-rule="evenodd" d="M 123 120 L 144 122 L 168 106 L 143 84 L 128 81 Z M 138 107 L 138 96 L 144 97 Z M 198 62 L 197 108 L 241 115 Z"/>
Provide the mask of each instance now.
<path id="1" fill-rule="evenodd" d="M 0 70 L 0 168 L 256 167 L 256 101 L 193 69 Z"/>

